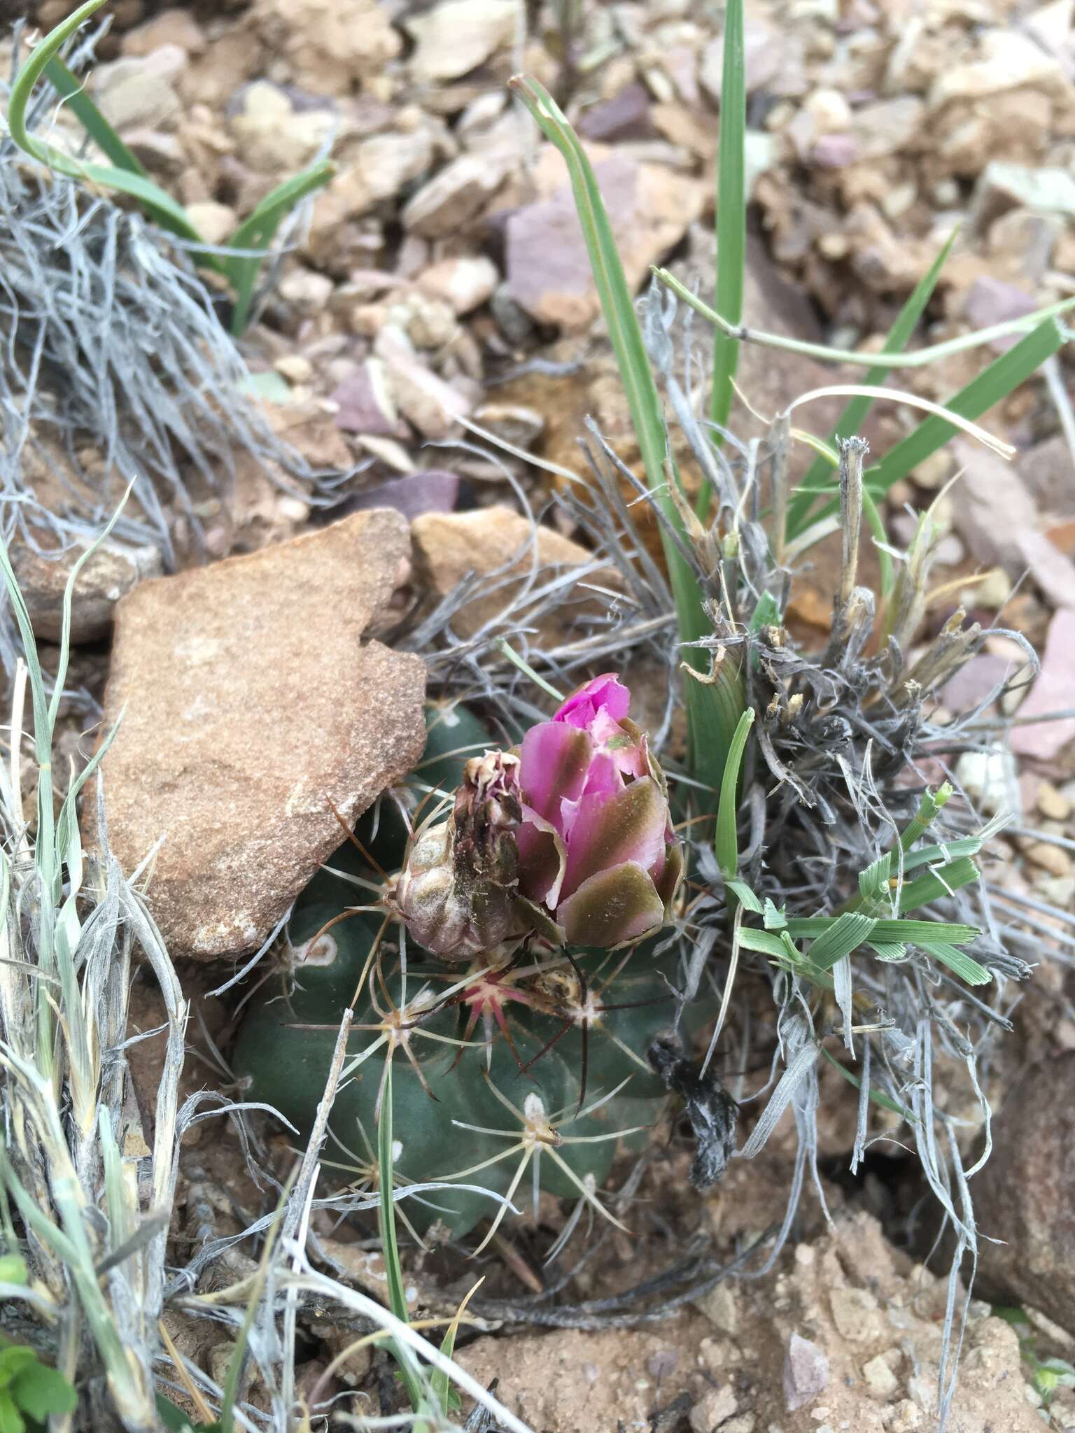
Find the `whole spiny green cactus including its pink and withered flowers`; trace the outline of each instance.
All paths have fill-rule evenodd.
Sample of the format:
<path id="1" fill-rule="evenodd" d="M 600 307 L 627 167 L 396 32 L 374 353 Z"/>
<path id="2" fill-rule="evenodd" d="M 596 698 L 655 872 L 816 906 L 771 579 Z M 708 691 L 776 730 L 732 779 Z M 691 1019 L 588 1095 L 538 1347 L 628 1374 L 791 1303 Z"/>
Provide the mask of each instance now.
<path id="1" fill-rule="evenodd" d="M 441 1185 L 398 1205 L 416 1235 L 439 1224 L 462 1237 L 490 1218 L 490 1238 L 509 1205 L 484 1191 L 519 1207 L 520 1189 L 540 1188 L 582 1199 L 612 1218 L 599 1191 L 616 1149 L 648 1131 L 665 1106 L 665 1085 L 646 1052 L 677 1026 L 678 954 L 671 943 L 662 949 L 652 930 L 664 920 L 678 880 L 678 844 L 668 825 L 664 780 L 645 738 L 634 727 L 621 729 L 626 692 L 615 686 L 618 714 L 601 718 L 598 725 L 606 729 L 595 738 L 595 711 L 601 716 L 606 708 L 585 706 L 566 738 L 582 759 L 570 768 L 573 775 L 565 764 L 556 770 L 569 771 L 570 790 L 560 795 L 579 810 L 586 780 L 603 785 L 598 800 L 591 792 L 591 807 L 622 800 L 632 785 L 644 791 L 636 807 L 646 823 L 642 847 L 629 834 L 626 850 L 624 840 L 613 841 L 605 866 L 595 867 L 601 876 L 638 857 L 629 877 L 631 890 L 641 891 L 634 907 L 641 911 L 638 920 L 629 901 L 621 901 L 628 929 L 619 921 L 591 923 L 609 937 L 601 946 L 549 939 L 558 931 L 562 906 L 548 900 L 549 886 L 533 878 L 536 867 L 527 867 L 525 841 L 516 848 L 520 821 L 535 820 L 527 800 L 532 788 L 516 792 L 512 785 L 519 761 L 503 752 L 474 759 L 474 748 L 492 745 L 487 731 L 459 708 L 447 721 L 443 709 L 433 709 L 429 745 L 404 800 L 417 804 L 427 797 L 423 788 L 443 792 L 459 785 L 453 815 L 441 825 L 434 817 L 431 824 L 437 833 L 431 844 L 441 853 L 449 848 L 441 866 L 421 854 L 423 843 L 430 847 L 430 828 L 400 848 L 398 807 L 383 802 L 377 828 L 367 817 L 358 830 L 360 843 L 383 870 L 403 864 L 384 898 L 387 911 L 406 923 L 397 927 L 398 941 L 396 931 L 386 930 L 380 910 L 367 907 L 340 919 L 348 893 L 340 874 L 331 873 L 376 880 L 355 847 L 341 848 L 297 903 L 288 966 L 262 984 L 239 1032 L 234 1065 L 248 1082 L 249 1098 L 272 1105 L 305 1136 L 324 1093 L 344 1009 L 353 1005 L 344 1078 L 330 1118 L 327 1171 L 340 1187 L 376 1185 L 374 1129 L 386 1062 L 393 1060 L 394 1178 Z M 558 714 L 569 734 L 562 714 L 578 711 L 572 701 Z M 548 742 L 550 727 L 532 731 Z M 609 744 L 612 761 L 605 759 Z M 552 784 L 542 800 L 535 824 L 552 831 L 545 854 L 553 851 L 563 884 L 565 868 L 570 871 L 570 830 L 565 840 L 560 797 L 553 801 Z M 500 919 L 505 891 L 516 888 L 505 884 L 516 858 L 519 884 L 530 880 L 529 894 L 510 917 Z M 429 890 L 416 896 L 416 887 L 431 880 L 430 871 L 441 873 L 444 886 L 436 898 Z M 575 888 L 592 874 L 583 871 Z M 472 919 L 476 910 L 483 919 Z M 648 939 L 632 941 L 636 930 L 649 933 Z M 611 937 L 625 934 L 628 944 L 618 940 L 622 949 L 608 949 Z M 416 936 L 424 937 L 424 949 L 414 949 Z M 708 1013 L 707 1000 L 692 1002 L 692 1023 Z"/>

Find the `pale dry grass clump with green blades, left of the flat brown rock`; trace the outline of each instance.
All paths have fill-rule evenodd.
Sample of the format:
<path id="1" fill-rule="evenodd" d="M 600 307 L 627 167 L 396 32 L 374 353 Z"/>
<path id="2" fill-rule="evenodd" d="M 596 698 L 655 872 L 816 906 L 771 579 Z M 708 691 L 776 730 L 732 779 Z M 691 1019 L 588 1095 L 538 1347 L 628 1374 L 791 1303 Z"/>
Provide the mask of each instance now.
<path id="1" fill-rule="evenodd" d="M 4 1307 L 43 1320 L 59 1370 L 90 1406 L 110 1406 L 125 1427 L 150 1429 L 186 1005 L 136 888 L 108 850 L 103 823 L 95 850 L 83 845 L 76 802 L 108 738 L 67 784 L 59 811 L 54 802 L 53 735 L 79 566 L 64 595 L 52 696 L 3 547 L 0 570 L 26 653 L 13 682 L 9 761 L 0 768 L 0 1242 L 27 1270 L 24 1284 L 9 1283 Z M 22 798 L 27 688 L 33 815 Z M 123 1058 L 138 947 L 168 1022 L 152 1149 L 132 1121 Z M 148 1152 L 145 1195 L 139 1159 L 125 1152 L 132 1141 Z"/>

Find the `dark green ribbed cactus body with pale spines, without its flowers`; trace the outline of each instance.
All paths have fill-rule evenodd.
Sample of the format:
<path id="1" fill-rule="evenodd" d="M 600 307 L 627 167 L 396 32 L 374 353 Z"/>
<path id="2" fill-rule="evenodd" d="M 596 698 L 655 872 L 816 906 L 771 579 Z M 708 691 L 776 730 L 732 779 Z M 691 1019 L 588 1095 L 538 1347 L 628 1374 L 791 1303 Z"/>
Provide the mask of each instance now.
<path id="1" fill-rule="evenodd" d="M 452 716 L 430 725 L 416 790 L 420 782 L 450 791 L 463 762 L 489 744 L 489 734 L 470 714 L 456 708 Z M 397 808 L 383 802 L 380 831 L 376 837 L 366 833 L 367 848 L 386 870 L 403 857 L 393 824 L 398 820 Z M 353 845 L 328 864 L 367 880 L 371 874 Z M 377 911 L 348 916 L 318 934 L 345 904 L 368 898 L 330 871 L 310 883 L 290 923 L 294 969 L 254 996 L 234 1066 L 248 1082 L 247 1098 L 275 1108 L 305 1138 L 340 1022 L 354 1002 L 344 1079 L 330 1119 L 325 1179 L 337 1187 L 360 1184 L 345 1168 L 354 1165 L 364 1169 L 366 1188 L 374 1192 L 376 1116 L 393 1043 L 386 1012 L 404 1005 L 397 934 L 391 927 L 386 933 L 390 944 L 373 976 L 370 954 L 383 923 Z M 417 1234 L 440 1222 L 462 1237 L 480 1219 L 496 1217 L 496 1199 L 459 1185 L 510 1192 L 516 1208 L 527 1202 L 535 1178 L 556 1197 L 586 1197 L 605 1182 L 618 1149 L 641 1148 L 665 1105 L 664 1083 L 649 1069 L 646 1050 L 672 1027 L 677 1013 L 677 956 L 658 950 L 656 940 L 631 952 L 579 950 L 572 964 L 563 953 L 529 943 L 499 963 L 494 953 L 467 967 L 431 960 L 407 941 L 407 1027 L 401 1030 L 397 1022 L 391 1055 L 394 1175 L 397 1184 L 450 1185 L 400 1201 L 400 1214 Z M 585 1005 L 579 973 L 586 983 Z M 705 1013 L 695 1007 L 692 1019 Z M 466 1046 L 460 1043 L 464 1036 Z M 636 1126 L 644 1132 L 621 1141 L 621 1131 Z"/>

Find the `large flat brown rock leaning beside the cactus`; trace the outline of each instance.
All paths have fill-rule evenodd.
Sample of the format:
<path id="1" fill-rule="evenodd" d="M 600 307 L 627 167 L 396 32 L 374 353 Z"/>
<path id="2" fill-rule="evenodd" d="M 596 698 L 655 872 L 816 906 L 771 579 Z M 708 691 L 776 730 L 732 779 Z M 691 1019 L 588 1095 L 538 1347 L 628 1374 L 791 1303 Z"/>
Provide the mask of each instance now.
<path id="1" fill-rule="evenodd" d="M 255 950 L 354 821 L 420 758 L 424 663 L 363 633 L 410 559 L 397 512 L 355 513 L 116 608 L 109 841 L 149 880 L 173 956 Z"/>

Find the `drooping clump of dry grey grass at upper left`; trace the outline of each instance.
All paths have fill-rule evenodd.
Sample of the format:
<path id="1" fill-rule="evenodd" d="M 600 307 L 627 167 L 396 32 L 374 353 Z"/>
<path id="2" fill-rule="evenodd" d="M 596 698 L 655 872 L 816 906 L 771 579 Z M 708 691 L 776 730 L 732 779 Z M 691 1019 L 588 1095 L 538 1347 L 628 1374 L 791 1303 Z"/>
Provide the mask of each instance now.
<path id="1" fill-rule="evenodd" d="M 72 66 L 90 53 L 92 40 Z M 178 549 L 196 552 L 206 496 L 226 503 L 244 460 L 307 503 L 338 502 L 340 474 L 312 470 L 248 401 L 251 374 L 189 259 L 16 143 L 17 129 L 40 150 L 52 120 L 56 92 L 27 85 L 42 54 L 19 69 L 16 43 L 19 77 L 0 85 L 11 119 L 0 135 L 0 535 L 33 552 L 85 546 L 138 474 L 116 537 L 171 566 Z M 4 612 L 9 674 L 16 656 Z"/>

